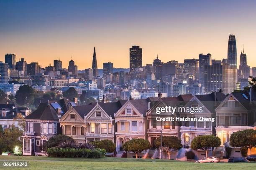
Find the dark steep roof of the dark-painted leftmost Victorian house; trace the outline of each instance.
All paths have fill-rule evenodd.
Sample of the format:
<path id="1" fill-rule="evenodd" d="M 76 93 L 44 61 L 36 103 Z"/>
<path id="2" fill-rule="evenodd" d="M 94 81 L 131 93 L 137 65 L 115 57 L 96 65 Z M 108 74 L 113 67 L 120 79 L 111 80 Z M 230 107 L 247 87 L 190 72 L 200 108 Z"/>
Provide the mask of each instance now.
<path id="1" fill-rule="evenodd" d="M 40 103 L 38 108 L 28 115 L 26 119 L 59 120 L 59 117 L 54 107 L 49 103 Z"/>

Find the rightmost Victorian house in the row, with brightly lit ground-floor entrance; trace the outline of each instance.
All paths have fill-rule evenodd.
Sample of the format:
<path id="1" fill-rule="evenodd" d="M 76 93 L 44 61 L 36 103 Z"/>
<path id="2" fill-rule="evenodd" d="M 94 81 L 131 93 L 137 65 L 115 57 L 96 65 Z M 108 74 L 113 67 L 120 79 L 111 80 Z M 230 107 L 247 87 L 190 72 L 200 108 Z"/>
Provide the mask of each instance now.
<path id="1" fill-rule="evenodd" d="M 216 135 L 221 145 L 215 148 L 215 155 L 225 156 L 225 146 L 230 146 L 229 138 L 232 133 L 239 130 L 256 129 L 256 103 L 255 97 L 247 92 L 232 92 L 215 109 Z M 231 146 L 230 146 L 231 147 Z M 253 152 L 256 152 L 253 148 Z M 232 148 L 231 157 L 241 157 L 240 148 Z"/>

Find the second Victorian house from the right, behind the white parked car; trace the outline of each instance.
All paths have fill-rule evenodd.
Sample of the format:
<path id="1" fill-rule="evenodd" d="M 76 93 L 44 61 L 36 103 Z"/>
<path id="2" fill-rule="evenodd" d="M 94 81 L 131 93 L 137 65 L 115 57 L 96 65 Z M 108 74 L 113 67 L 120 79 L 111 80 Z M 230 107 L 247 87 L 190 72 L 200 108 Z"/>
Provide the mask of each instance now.
<path id="1" fill-rule="evenodd" d="M 225 99 L 222 92 L 212 92 L 206 95 L 195 95 L 184 107 L 200 108 L 197 112 L 180 112 L 180 117 L 192 117 L 197 121 L 182 121 L 180 138 L 184 148 L 189 148 L 192 140 L 200 135 L 215 134 L 215 108 Z M 200 117 L 214 118 L 214 121 L 201 120 Z"/>

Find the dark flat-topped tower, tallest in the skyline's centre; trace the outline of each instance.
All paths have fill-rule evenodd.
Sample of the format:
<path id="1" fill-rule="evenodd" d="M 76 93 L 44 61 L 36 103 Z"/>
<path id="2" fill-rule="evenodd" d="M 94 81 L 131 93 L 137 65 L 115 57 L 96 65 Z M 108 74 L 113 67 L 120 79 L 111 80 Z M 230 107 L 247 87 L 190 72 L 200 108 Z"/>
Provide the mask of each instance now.
<path id="1" fill-rule="evenodd" d="M 142 48 L 133 46 L 130 48 L 130 72 L 133 72 L 138 67 L 142 67 Z"/>

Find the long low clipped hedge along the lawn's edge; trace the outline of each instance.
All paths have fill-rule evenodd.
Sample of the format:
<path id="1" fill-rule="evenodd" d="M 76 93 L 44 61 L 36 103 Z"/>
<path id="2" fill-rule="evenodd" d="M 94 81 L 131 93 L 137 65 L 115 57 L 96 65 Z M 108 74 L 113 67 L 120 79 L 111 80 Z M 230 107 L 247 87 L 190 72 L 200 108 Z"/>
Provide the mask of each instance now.
<path id="1" fill-rule="evenodd" d="M 105 156 L 105 149 L 86 149 L 86 148 L 48 148 L 48 156 L 63 158 L 102 158 Z"/>

